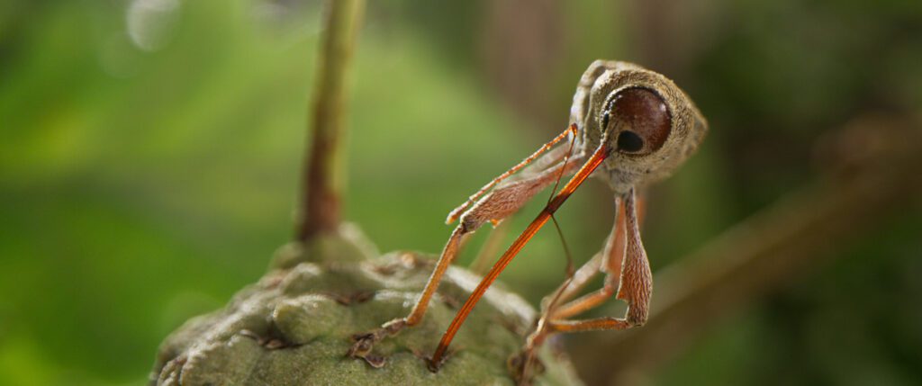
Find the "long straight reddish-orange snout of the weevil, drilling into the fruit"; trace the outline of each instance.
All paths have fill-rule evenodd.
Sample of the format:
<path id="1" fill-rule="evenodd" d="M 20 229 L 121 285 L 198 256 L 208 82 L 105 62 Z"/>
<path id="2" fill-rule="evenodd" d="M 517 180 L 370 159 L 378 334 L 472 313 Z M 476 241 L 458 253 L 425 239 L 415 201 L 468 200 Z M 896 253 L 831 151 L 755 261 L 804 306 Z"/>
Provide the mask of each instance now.
<path id="1" fill-rule="evenodd" d="M 461 306 L 461 310 L 458 310 L 457 314 L 455 315 L 455 320 L 452 321 L 451 325 L 448 327 L 448 330 L 446 330 L 443 334 L 442 340 L 439 342 L 439 346 L 435 349 L 435 353 L 432 354 L 429 363 L 430 369 L 432 371 L 437 371 L 438 368 L 442 366 L 445 351 L 448 349 L 448 345 L 451 344 L 452 339 L 454 339 L 455 333 L 457 333 L 458 329 L 461 328 L 461 324 L 464 323 L 465 319 L 467 319 L 467 315 L 471 310 L 474 310 L 474 306 L 477 304 L 479 299 L 483 297 L 483 294 L 487 291 L 487 288 L 490 287 L 493 281 L 496 280 L 496 277 L 500 275 L 502 270 L 505 269 L 506 265 L 512 261 L 515 255 L 518 254 L 518 252 L 521 251 L 523 247 L 525 247 L 525 244 L 528 242 L 528 240 L 531 240 L 531 238 L 534 237 L 536 233 L 538 233 L 538 229 L 543 227 L 544 224 L 548 222 L 550 216 L 552 216 L 554 212 L 556 212 L 557 209 L 563 205 L 567 198 L 573 194 L 576 188 L 579 187 L 579 185 L 582 184 L 583 181 L 585 181 L 585 179 L 588 178 L 589 175 L 591 175 L 592 172 L 602 164 L 602 161 L 604 161 L 605 158 L 609 157 L 610 148 L 606 142 L 607 141 L 604 140 L 602 141 L 592 156 L 585 161 L 585 165 L 583 165 L 583 167 L 576 172 L 573 178 L 568 181 L 567 184 L 563 186 L 563 188 L 561 188 L 561 192 L 557 193 L 557 195 L 555 195 L 554 198 L 550 200 L 548 205 L 546 205 L 544 209 L 541 210 L 541 213 L 539 213 L 538 216 L 532 220 L 531 224 L 529 224 L 525 231 L 519 235 L 518 239 L 513 242 L 509 249 L 502 254 L 500 260 L 493 265 L 493 268 L 490 270 L 490 272 L 484 276 L 483 280 L 480 281 L 480 284 L 477 286 L 477 288 L 474 289 L 474 292 L 471 293 L 470 297 L 467 298 L 465 304 Z"/>

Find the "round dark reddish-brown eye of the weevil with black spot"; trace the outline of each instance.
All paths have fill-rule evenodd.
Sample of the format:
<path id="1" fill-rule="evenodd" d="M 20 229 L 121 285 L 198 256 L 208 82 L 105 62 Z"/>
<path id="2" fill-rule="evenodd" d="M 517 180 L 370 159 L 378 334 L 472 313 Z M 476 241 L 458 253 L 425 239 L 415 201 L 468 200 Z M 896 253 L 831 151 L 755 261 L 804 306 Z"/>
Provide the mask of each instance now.
<path id="1" fill-rule="evenodd" d="M 644 155 L 666 143 L 672 117 L 666 101 L 648 88 L 625 88 L 609 102 L 609 120 L 618 131 L 621 153 Z"/>

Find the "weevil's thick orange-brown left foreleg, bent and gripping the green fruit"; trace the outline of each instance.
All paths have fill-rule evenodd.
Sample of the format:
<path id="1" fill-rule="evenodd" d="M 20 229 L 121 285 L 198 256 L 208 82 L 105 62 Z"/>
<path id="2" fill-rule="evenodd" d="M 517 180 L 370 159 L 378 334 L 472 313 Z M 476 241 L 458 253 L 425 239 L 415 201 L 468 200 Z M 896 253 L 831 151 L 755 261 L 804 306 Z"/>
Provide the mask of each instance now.
<path id="1" fill-rule="evenodd" d="M 432 271 L 432 275 L 426 283 L 426 287 L 423 288 L 422 294 L 413 306 L 413 309 L 410 310 L 409 314 L 404 318 L 386 322 L 381 328 L 370 333 L 355 335 L 354 339 L 356 342 L 349 348 L 350 357 L 366 357 L 366 355 L 372 351 L 374 343 L 384 339 L 385 336 L 399 333 L 404 328 L 414 326 L 422 321 L 422 317 L 429 307 L 429 302 L 439 287 L 442 276 L 448 269 L 448 266 L 455 260 L 458 250 L 460 249 L 461 240 L 466 235 L 473 233 L 487 222 L 496 223 L 502 221 L 502 219 L 507 216 L 511 216 L 522 207 L 522 205 L 525 205 L 531 197 L 550 185 L 550 183 L 557 181 L 562 174 L 569 174 L 575 169 L 575 165 L 578 165 L 579 159 L 575 161 L 573 159 L 567 159 L 566 152 L 561 152 L 558 149 L 551 150 L 548 154 L 545 154 L 543 158 L 538 158 L 563 138 L 567 137 L 567 135 L 572 135 L 572 138 L 575 138 L 575 125 L 571 125 L 567 130 L 561 133 L 561 135 L 558 135 L 549 143 L 538 148 L 538 151 L 534 154 L 515 165 L 512 169 L 502 173 L 499 177 L 493 179 L 493 181 L 485 185 L 477 193 L 471 195 L 465 204 L 458 206 L 458 208 L 451 212 L 448 216 L 448 222 L 460 219 L 460 224 L 458 224 L 452 232 L 451 237 L 448 239 L 448 242 L 445 244 L 442 255 L 435 264 L 435 269 Z M 564 160 L 561 161 L 561 158 L 564 158 Z M 533 162 L 535 168 L 529 165 Z M 535 170 L 545 165 L 553 166 L 544 170 Z M 528 168 L 526 168 L 526 166 Z M 503 183 L 496 187 L 491 193 L 484 195 L 501 181 L 523 168 L 526 168 L 526 171 L 530 172 L 526 173 L 526 175 L 518 181 Z M 475 202 L 475 200 L 477 201 Z"/>

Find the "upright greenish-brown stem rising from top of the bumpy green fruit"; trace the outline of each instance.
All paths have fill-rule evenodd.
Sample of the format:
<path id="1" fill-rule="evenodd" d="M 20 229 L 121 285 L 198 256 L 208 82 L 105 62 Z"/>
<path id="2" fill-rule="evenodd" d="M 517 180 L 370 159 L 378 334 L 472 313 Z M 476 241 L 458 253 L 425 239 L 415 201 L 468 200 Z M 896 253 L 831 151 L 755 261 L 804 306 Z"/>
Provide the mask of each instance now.
<path id="1" fill-rule="evenodd" d="M 327 6 L 313 89 L 311 154 L 304 159 L 303 195 L 296 220 L 295 239 L 300 241 L 337 230 L 346 181 L 341 154 L 345 135 L 346 76 L 365 2 L 330 0 Z"/>

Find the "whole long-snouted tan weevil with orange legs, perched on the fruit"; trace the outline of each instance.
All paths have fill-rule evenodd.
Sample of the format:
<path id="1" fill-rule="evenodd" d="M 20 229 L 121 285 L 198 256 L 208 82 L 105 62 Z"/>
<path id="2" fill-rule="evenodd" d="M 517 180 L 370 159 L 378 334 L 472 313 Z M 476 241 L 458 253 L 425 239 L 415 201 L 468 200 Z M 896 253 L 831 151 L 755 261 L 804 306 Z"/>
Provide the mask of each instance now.
<path id="1" fill-rule="evenodd" d="M 570 181 L 553 195 L 457 311 L 455 320 L 430 358 L 429 367 L 437 371 L 442 366 L 455 333 L 479 298 L 526 242 L 591 175 L 607 181 L 614 193 L 618 208 L 615 227 L 604 251 L 585 263 L 554 296 L 543 302 L 538 327 L 526 340 L 526 359 L 550 333 L 624 330 L 644 324 L 653 277 L 640 238 L 640 200 L 635 191 L 646 183 L 667 177 L 679 167 L 698 147 L 706 131 L 707 123 L 701 112 L 667 77 L 637 64 L 593 62 L 580 78 L 573 96 L 570 127 L 493 179 L 449 214 L 446 222 L 458 220 L 459 224 L 445 244 L 413 309 L 404 318 L 386 322 L 370 333 L 355 335 L 356 342 L 349 349 L 349 355 L 365 357 L 384 337 L 418 324 L 445 270 L 455 260 L 465 235 L 488 222 L 496 224 L 513 215 L 538 192 L 570 174 L 573 174 Z M 571 146 L 558 146 L 564 138 L 569 139 Z M 518 173 L 515 178 L 510 178 L 515 173 Z M 604 286 L 571 300 L 597 272 L 606 274 Z M 623 318 L 570 319 L 596 307 L 611 295 L 627 302 L 628 310 Z"/>

